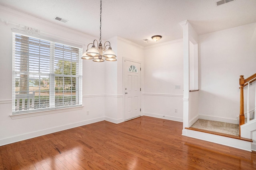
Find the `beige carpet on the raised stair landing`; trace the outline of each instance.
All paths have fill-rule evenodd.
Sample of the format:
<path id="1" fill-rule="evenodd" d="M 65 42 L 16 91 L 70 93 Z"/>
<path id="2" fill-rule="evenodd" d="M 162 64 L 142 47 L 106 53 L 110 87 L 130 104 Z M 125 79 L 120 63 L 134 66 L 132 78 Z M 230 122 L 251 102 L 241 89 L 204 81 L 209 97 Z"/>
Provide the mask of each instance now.
<path id="1" fill-rule="evenodd" d="M 239 125 L 232 123 L 198 119 L 191 127 L 239 136 Z"/>

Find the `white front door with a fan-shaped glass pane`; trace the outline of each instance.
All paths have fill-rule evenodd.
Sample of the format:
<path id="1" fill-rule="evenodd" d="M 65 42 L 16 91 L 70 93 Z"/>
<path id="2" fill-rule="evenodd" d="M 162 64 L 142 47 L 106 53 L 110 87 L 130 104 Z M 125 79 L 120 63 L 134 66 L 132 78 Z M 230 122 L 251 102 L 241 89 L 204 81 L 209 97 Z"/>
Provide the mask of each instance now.
<path id="1" fill-rule="evenodd" d="M 140 116 L 140 63 L 124 60 L 124 119 Z"/>

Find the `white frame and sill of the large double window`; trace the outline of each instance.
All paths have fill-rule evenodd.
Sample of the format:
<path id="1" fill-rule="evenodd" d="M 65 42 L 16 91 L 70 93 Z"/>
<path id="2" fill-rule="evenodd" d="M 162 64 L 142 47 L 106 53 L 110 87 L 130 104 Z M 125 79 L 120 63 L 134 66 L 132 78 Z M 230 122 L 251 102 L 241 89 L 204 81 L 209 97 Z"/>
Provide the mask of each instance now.
<path id="1" fill-rule="evenodd" d="M 44 74 L 48 74 L 49 75 L 49 80 L 50 80 L 50 84 L 49 84 L 49 102 L 54 103 L 54 106 L 52 106 L 51 104 L 49 104 L 49 107 L 45 107 L 45 108 L 39 108 L 39 109 L 26 109 L 25 111 L 16 111 L 15 105 L 16 105 L 16 90 L 15 90 L 15 86 L 16 86 L 16 72 L 17 70 L 15 70 L 15 59 L 16 59 L 16 53 L 15 53 L 15 49 L 16 49 L 16 34 L 18 35 L 23 35 L 26 37 L 31 37 L 31 38 L 35 38 L 35 39 L 40 39 L 43 41 L 49 41 L 50 45 L 54 45 L 54 44 L 58 44 L 58 45 L 63 45 L 63 46 L 68 46 L 70 48 L 76 48 L 78 49 L 78 61 L 76 62 L 76 64 L 78 65 L 78 70 L 76 70 L 76 74 L 74 75 L 74 77 L 76 77 L 76 89 L 78 88 L 78 90 L 76 91 L 76 94 L 74 95 L 76 98 L 76 104 L 70 104 L 68 106 L 61 106 L 61 107 L 56 107 L 55 106 L 55 77 L 57 74 L 55 74 L 55 69 L 54 69 L 54 53 L 55 50 L 52 47 L 50 47 L 50 65 L 53 64 L 53 68 L 49 69 L 49 73 L 44 73 Z M 30 117 L 30 116 L 35 116 L 35 115 L 42 115 L 44 114 L 44 112 L 46 114 L 50 114 L 52 113 L 52 110 L 54 110 L 54 112 L 56 112 L 57 110 L 60 111 L 64 111 L 63 109 L 66 109 L 66 111 L 68 110 L 77 110 L 77 109 L 81 109 L 82 107 L 82 45 L 77 45 L 77 44 L 73 44 L 73 43 L 68 43 L 65 41 L 61 41 L 58 39 L 54 39 L 54 38 L 50 38 L 50 37 L 44 37 L 41 35 L 34 35 L 31 33 L 26 33 L 24 31 L 20 31 L 17 29 L 12 29 L 12 115 L 11 116 L 15 116 L 15 117 Z M 70 58 L 70 60 L 72 60 Z M 65 61 L 65 59 L 60 60 L 60 61 Z M 72 61 L 70 61 L 70 64 L 72 64 Z M 31 70 L 30 70 L 31 71 Z M 28 71 L 28 74 L 34 74 L 33 72 Z M 21 71 L 18 71 L 19 73 L 21 73 Z M 40 72 L 38 73 L 38 75 L 40 74 Z M 77 75 L 78 74 L 78 75 Z M 41 74 L 40 74 L 41 75 Z M 72 77 L 72 73 L 71 74 L 58 74 L 59 76 L 62 76 L 63 78 L 65 77 Z M 57 75 L 57 76 L 58 76 Z M 52 77 L 53 76 L 53 77 Z M 70 87 L 71 89 L 71 87 Z M 71 90 L 72 91 L 72 90 Z M 30 90 L 28 90 L 28 92 L 30 92 Z M 72 98 L 72 95 L 70 96 Z M 78 100 L 78 101 L 77 101 Z M 64 104 L 63 104 L 64 105 Z M 57 111 L 58 112 L 58 111 Z M 29 114 L 28 114 L 29 113 Z M 24 116 L 28 114 L 27 116 Z M 16 115 L 20 115 L 20 116 L 16 116 Z"/>

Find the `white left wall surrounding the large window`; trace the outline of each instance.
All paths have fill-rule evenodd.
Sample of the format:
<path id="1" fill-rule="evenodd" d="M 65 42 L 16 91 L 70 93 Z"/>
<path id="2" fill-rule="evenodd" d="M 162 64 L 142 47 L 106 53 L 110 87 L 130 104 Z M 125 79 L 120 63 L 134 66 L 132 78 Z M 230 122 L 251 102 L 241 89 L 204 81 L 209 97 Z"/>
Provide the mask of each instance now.
<path id="1" fill-rule="evenodd" d="M 12 28 L 20 24 L 40 29 L 41 35 L 83 45 L 84 49 L 95 38 L 3 6 L 0 19 L 8 21 L 0 22 L 0 146 L 104 120 L 104 64 L 92 61 L 83 61 L 83 107 L 12 119 Z"/>

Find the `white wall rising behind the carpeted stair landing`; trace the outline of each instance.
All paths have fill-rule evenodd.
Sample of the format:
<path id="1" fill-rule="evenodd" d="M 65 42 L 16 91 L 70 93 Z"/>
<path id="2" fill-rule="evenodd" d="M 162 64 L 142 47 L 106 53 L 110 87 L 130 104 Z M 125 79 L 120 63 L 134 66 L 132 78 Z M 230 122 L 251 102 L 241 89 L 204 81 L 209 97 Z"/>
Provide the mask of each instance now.
<path id="1" fill-rule="evenodd" d="M 239 76 L 256 72 L 256 23 L 199 36 L 199 115 L 237 123 Z"/>

